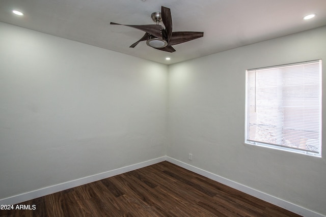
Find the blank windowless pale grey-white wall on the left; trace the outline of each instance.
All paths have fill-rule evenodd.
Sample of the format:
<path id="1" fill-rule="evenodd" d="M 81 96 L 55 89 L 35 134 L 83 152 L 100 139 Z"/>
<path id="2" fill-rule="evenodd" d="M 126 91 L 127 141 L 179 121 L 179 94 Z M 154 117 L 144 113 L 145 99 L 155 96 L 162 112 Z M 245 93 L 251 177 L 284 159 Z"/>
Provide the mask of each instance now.
<path id="1" fill-rule="evenodd" d="M 0 199 L 165 156 L 166 65 L 0 32 Z"/>

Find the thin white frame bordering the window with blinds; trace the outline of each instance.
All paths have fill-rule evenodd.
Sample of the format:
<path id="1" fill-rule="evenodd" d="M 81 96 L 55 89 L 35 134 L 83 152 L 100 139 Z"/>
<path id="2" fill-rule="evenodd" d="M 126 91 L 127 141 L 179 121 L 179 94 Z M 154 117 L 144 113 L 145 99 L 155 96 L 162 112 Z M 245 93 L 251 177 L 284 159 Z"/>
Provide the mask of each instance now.
<path id="1" fill-rule="evenodd" d="M 288 67 L 288 66 L 296 66 L 296 65 L 303 65 L 303 64 L 310 64 L 310 63 L 319 63 L 319 150 L 316 151 L 309 151 L 300 149 L 300 148 L 295 148 L 295 147 L 287 147 L 283 145 L 278 145 L 278 144 L 270 144 L 268 142 L 259 142 L 259 141 L 253 141 L 254 139 L 249 140 L 248 137 L 248 99 L 249 99 L 249 94 L 248 94 L 248 73 L 253 72 L 253 71 L 259 71 L 259 70 L 264 70 L 264 69 L 277 69 L 277 68 L 282 68 L 282 67 Z M 288 65 L 280 65 L 280 66 L 274 66 L 274 67 L 265 67 L 265 68 L 258 68 L 258 69 L 249 69 L 246 70 L 246 114 L 245 114 L 245 140 L 244 143 L 250 144 L 250 145 L 257 145 L 257 146 L 263 146 L 267 148 L 274 148 L 274 149 L 279 149 L 279 150 L 285 150 L 285 151 L 291 151 L 291 152 L 296 152 L 296 153 L 302 153 L 302 154 L 308 154 L 316 157 L 321 157 L 321 91 L 322 91 L 322 86 L 321 86 L 321 60 L 313 60 L 313 61 L 307 61 L 307 62 L 302 62 L 302 63 L 295 63 L 295 64 L 288 64 Z M 256 79 L 256 78 L 255 78 Z M 255 81 L 256 82 L 256 81 Z M 256 87 L 255 87 L 255 92 L 256 92 Z M 252 95 L 251 95 L 252 96 Z M 256 93 L 255 93 L 255 98 L 256 98 Z M 279 99 L 279 98 L 277 98 Z M 284 100 L 285 101 L 285 100 Z M 256 103 L 256 99 L 255 99 Z M 255 105 L 256 106 L 256 105 Z M 256 107 L 255 107 L 256 109 Z M 257 122 L 256 122 L 257 125 Z M 283 135 L 283 134 L 282 134 Z"/>

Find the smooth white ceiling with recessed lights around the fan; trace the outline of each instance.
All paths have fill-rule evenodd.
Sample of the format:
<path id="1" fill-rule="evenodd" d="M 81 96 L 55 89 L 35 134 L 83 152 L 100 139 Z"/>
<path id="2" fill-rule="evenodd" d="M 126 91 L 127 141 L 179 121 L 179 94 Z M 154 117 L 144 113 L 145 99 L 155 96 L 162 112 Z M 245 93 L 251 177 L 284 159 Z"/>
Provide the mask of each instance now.
<path id="1" fill-rule="evenodd" d="M 161 6 L 171 9 L 173 31 L 204 32 L 204 37 L 174 45 L 176 52 L 168 53 L 146 42 L 129 48 L 144 32 L 110 25 L 154 24 L 150 15 Z M 317 16 L 302 19 L 310 13 Z M 173 64 L 326 25 L 326 0 L 0 0 L 0 21 Z"/>

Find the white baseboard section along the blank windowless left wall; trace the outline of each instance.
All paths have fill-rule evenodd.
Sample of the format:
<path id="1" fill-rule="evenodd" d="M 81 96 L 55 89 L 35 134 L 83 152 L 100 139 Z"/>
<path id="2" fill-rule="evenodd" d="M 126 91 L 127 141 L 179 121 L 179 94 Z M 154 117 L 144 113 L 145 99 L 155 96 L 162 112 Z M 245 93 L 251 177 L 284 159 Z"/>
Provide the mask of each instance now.
<path id="1" fill-rule="evenodd" d="M 38 197 L 43 197 L 45 195 L 49 195 L 49 194 L 64 191 L 64 190 L 67 190 L 67 189 L 71 189 L 71 188 L 77 187 L 79 185 L 91 183 L 93 181 L 98 181 L 98 180 L 101 180 L 101 179 L 104 179 L 104 178 L 112 177 L 112 176 L 115 176 L 115 175 L 119 175 L 119 174 L 122 174 L 122 173 L 125 173 L 125 172 L 132 171 L 132 170 L 137 170 L 137 169 L 147 167 L 147 166 L 150 166 L 150 165 L 153 165 L 153 164 L 165 161 L 165 160 L 166 160 L 166 157 L 164 156 L 164 157 L 152 159 L 152 160 L 149 160 L 149 161 L 141 162 L 141 163 L 138 163 L 138 164 L 133 164 L 133 165 L 130 165 L 130 166 L 118 168 L 118 169 L 115 169 L 115 170 L 110 170 L 110 171 L 107 171 L 107 172 L 87 176 L 87 177 L 84 177 L 84 178 L 79 178 L 79 179 L 75 179 L 75 180 L 72 180 L 72 181 L 67 181 L 67 182 L 52 185 L 50 187 L 46 187 L 46 188 L 43 188 L 43 189 L 38 189 L 38 190 L 35 190 L 35 191 L 26 192 L 26 193 L 23 193 L 23 194 L 12 196 L 12 197 L 0 199 L 0 204 L 17 204 L 17 203 L 21 203 L 21 202 L 24 202 L 24 201 L 28 201 L 28 200 L 38 198 Z"/>

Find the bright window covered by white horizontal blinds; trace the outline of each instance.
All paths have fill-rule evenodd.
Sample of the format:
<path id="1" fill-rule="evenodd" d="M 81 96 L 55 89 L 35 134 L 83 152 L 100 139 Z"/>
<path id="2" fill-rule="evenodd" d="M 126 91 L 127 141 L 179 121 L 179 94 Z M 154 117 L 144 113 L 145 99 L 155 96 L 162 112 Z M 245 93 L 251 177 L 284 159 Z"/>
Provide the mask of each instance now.
<path id="1" fill-rule="evenodd" d="M 246 143 L 321 156 L 321 60 L 246 76 Z"/>

